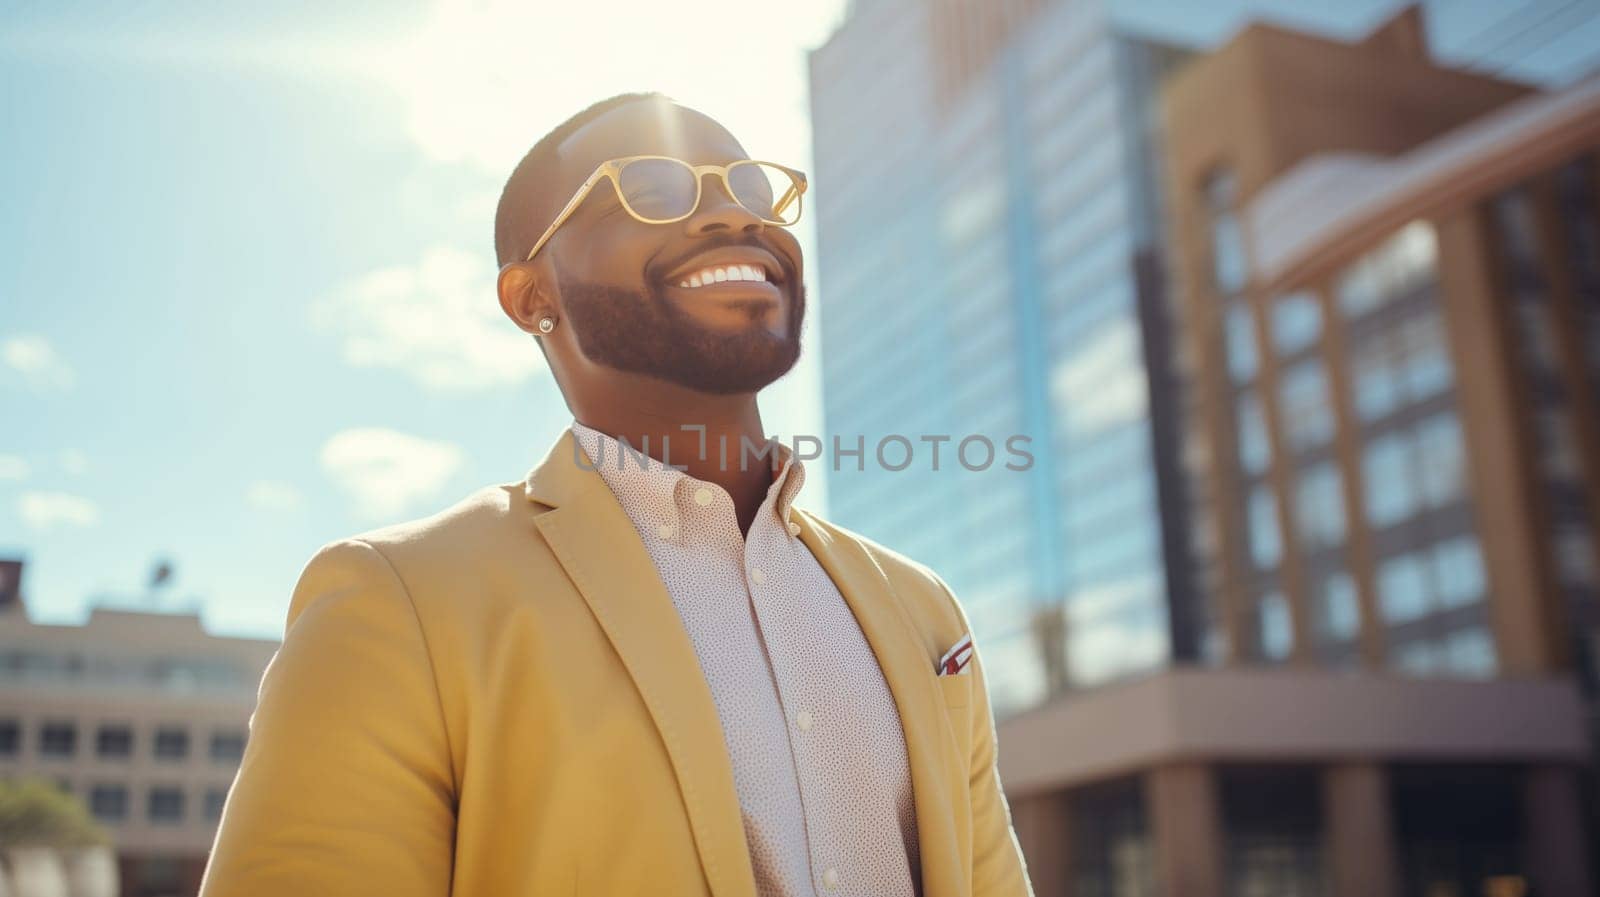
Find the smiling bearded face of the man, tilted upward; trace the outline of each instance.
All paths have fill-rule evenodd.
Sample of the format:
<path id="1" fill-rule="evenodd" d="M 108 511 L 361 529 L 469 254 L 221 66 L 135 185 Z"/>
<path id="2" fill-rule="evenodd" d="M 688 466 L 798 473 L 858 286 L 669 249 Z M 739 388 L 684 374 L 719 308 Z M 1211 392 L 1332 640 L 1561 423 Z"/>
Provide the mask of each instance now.
<path id="1" fill-rule="evenodd" d="M 710 118 L 664 101 L 608 110 L 557 150 L 554 217 L 605 160 L 669 155 L 690 165 L 749 158 Z M 696 392 L 757 392 L 800 357 L 805 313 L 800 245 L 739 206 L 722 181 L 701 182 L 701 205 L 674 224 L 637 221 L 600 182 L 547 249 L 566 323 L 594 363 Z M 766 280 L 683 286 L 691 275 L 750 265 Z"/>

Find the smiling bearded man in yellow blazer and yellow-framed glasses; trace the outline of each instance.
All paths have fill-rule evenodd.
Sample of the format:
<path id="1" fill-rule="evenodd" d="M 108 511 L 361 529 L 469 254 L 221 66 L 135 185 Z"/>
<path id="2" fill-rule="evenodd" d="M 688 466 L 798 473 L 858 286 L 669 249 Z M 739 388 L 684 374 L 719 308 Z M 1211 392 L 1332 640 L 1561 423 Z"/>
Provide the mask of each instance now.
<path id="1" fill-rule="evenodd" d="M 962 609 L 763 435 L 803 192 L 658 94 L 534 146 L 499 301 L 574 424 L 310 561 L 205 897 L 1030 892 Z"/>

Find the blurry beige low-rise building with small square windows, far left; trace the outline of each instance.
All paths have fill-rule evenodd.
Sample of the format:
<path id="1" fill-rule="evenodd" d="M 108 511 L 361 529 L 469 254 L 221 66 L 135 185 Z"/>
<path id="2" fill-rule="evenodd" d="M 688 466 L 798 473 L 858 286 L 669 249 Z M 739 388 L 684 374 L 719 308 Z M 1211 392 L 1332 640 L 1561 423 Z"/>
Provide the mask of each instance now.
<path id="1" fill-rule="evenodd" d="M 37 624 L 11 595 L 0 777 L 82 798 L 112 833 L 125 897 L 195 894 L 278 643 L 210 635 L 195 614 L 96 608 L 83 625 Z"/>

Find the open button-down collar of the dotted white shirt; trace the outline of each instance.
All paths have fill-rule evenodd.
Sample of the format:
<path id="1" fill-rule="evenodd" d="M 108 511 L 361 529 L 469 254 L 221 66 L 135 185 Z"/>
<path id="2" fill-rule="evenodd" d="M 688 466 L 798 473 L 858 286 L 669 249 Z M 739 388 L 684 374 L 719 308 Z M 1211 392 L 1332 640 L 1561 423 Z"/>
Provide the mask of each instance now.
<path id="1" fill-rule="evenodd" d="M 589 456 L 589 464 L 611 488 L 618 504 L 622 505 L 635 526 L 648 532 L 670 532 L 674 536 L 682 532 L 683 508 L 696 508 L 693 494 L 702 486 L 712 489 L 723 500 L 728 497 L 722 486 L 669 467 L 643 454 L 642 446 L 624 446 L 616 437 L 578 421 L 573 421 L 571 430 L 579 448 Z M 773 483 L 766 488 L 763 505 L 771 504 L 779 524 L 792 534 L 794 500 L 805 484 L 805 464 L 794 457 L 794 449 L 782 441 L 773 440 L 770 445 L 773 446 L 771 452 L 758 459 L 752 457 L 752 464 L 773 464 L 773 459 L 778 459 L 778 470 L 773 472 Z"/>

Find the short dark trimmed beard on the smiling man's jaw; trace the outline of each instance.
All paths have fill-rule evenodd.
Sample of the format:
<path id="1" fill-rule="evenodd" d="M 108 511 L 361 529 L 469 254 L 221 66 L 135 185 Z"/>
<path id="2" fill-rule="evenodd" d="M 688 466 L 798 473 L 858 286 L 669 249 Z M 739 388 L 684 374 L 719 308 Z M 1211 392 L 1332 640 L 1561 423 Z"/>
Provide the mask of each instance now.
<path id="1" fill-rule="evenodd" d="M 805 286 L 797 285 L 782 336 L 750 326 L 717 333 L 699 326 L 662 294 L 555 277 L 578 349 L 590 361 L 710 393 L 757 392 L 789 373 L 800 360 L 800 321 Z M 795 283 L 794 280 L 790 283 Z"/>

